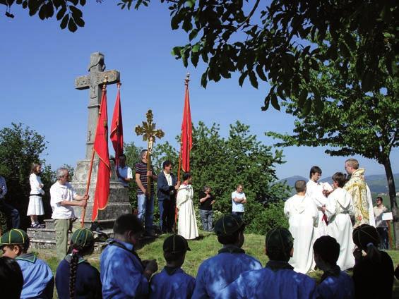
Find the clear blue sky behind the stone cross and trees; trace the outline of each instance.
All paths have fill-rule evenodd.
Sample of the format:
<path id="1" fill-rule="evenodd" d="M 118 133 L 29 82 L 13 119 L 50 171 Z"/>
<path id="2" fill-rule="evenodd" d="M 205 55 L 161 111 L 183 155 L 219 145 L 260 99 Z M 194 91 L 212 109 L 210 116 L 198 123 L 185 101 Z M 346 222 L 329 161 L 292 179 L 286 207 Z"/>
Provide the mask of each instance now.
<path id="1" fill-rule="evenodd" d="M 88 90 L 75 90 L 74 79 L 87 74 L 90 53 L 105 54 L 107 69 L 121 72 L 121 101 L 124 138 L 145 146 L 133 129 L 153 109 L 164 140 L 176 145 L 184 104 L 184 78 L 191 74 L 191 117 L 208 126 L 219 123 L 226 136 L 230 123 L 239 120 L 251 126 L 251 133 L 266 145 L 266 130 L 291 133 L 294 118 L 280 111 L 261 111 L 268 85 L 255 90 L 237 78 L 200 84 L 205 66 L 184 68 L 170 54 L 172 47 L 186 44 L 187 35 L 170 29 L 167 6 L 157 1 L 140 11 L 121 11 L 117 1 L 88 1 L 83 10 L 85 27 L 71 33 L 59 28 L 56 20 L 40 20 L 13 6 L 14 19 L 4 16 L 0 6 L 1 117 L 0 128 L 11 122 L 24 123 L 49 142 L 44 159 L 55 169 L 61 164 L 76 166 L 85 156 Z M 109 118 L 117 87 L 108 87 Z M 288 147 L 287 163 L 277 166 L 280 178 L 308 176 L 313 165 L 321 166 L 323 176 L 344 171 L 345 157 L 330 157 L 324 147 Z M 113 152 L 110 150 L 110 152 Z M 376 161 L 356 157 L 369 174 L 383 174 Z M 398 172 L 399 151 L 391 153 L 393 172 Z"/>

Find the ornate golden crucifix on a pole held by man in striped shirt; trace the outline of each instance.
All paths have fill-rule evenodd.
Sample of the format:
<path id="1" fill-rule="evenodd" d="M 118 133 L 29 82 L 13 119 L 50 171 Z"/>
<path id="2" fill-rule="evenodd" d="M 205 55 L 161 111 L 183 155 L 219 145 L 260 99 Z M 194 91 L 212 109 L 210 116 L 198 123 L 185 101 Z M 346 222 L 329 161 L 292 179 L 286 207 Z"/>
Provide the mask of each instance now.
<path id="1" fill-rule="evenodd" d="M 151 170 L 151 154 L 153 153 L 153 146 L 156 138 L 164 137 L 165 133 L 162 130 L 155 130 L 155 123 L 153 123 L 153 111 L 148 110 L 147 121 L 143 121 L 143 126 L 136 126 L 134 129 L 137 135 L 143 135 L 143 141 L 147 141 L 147 171 Z M 147 193 L 151 195 L 151 176 L 147 176 Z"/>

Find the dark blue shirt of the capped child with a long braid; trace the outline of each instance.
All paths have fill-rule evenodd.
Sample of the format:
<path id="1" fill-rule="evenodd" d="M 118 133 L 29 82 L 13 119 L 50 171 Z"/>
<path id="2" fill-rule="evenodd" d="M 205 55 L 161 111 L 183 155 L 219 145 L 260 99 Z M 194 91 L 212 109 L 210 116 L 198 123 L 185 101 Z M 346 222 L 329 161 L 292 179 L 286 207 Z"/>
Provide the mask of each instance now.
<path id="1" fill-rule="evenodd" d="M 55 284 L 59 299 L 69 299 L 69 278 L 71 255 L 67 255 L 56 269 Z M 79 259 L 76 269 L 75 299 L 100 299 L 100 273 L 83 258 Z"/>

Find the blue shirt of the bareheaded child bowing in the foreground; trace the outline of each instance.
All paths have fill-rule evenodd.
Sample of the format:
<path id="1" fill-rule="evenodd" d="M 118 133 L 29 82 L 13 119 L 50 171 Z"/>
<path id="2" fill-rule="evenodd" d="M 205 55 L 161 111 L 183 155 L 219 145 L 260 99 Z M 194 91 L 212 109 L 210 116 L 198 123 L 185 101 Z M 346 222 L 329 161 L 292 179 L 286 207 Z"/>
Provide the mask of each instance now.
<path id="1" fill-rule="evenodd" d="M 102 297 L 142 298 L 148 295 L 148 281 L 143 264 L 133 253 L 133 245 L 109 239 L 100 257 Z M 122 248 L 124 247 L 124 248 Z"/>

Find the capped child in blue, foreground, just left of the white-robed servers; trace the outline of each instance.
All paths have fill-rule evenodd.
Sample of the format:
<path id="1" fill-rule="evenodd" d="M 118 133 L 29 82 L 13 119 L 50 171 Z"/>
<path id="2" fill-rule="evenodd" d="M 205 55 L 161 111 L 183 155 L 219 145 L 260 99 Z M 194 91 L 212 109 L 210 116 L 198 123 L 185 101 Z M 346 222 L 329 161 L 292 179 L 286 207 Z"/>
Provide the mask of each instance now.
<path id="1" fill-rule="evenodd" d="M 316 282 L 297 273 L 288 264 L 292 257 L 294 239 L 285 228 L 273 228 L 266 235 L 266 255 L 269 262 L 260 270 L 246 271 L 222 290 L 221 298 L 315 298 Z"/>

